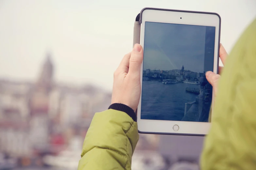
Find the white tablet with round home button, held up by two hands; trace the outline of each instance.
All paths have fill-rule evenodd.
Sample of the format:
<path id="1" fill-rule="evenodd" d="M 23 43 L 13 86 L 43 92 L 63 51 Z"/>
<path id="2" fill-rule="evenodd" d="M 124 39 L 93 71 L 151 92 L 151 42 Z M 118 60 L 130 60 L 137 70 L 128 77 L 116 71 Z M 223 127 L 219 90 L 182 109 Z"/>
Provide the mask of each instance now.
<path id="1" fill-rule="evenodd" d="M 147 134 L 206 135 L 218 73 L 220 16 L 144 8 L 140 13 L 141 98 L 138 130 Z"/>

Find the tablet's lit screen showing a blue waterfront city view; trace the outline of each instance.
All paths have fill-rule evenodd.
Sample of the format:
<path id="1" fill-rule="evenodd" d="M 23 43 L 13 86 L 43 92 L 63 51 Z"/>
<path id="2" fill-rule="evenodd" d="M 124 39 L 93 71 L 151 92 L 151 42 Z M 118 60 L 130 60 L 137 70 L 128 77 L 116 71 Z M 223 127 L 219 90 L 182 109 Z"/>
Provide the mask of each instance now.
<path id="1" fill-rule="evenodd" d="M 141 119 L 208 122 L 215 27 L 145 22 Z"/>

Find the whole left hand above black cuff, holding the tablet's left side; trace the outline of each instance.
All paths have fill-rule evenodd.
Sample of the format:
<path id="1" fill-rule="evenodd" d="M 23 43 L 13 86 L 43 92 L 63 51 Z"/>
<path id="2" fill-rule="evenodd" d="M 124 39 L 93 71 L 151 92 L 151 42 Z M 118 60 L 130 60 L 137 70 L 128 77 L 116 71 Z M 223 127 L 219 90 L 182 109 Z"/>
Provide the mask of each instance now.
<path id="1" fill-rule="evenodd" d="M 111 104 L 121 103 L 136 111 L 141 96 L 141 64 L 143 49 L 135 44 L 114 72 Z"/>

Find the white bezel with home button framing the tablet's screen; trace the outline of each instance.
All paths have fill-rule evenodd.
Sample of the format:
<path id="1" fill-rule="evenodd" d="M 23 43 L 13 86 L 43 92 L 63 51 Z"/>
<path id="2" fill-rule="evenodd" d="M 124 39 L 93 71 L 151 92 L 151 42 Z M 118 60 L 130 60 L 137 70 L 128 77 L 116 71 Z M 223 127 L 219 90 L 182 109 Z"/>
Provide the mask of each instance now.
<path id="1" fill-rule="evenodd" d="M 182 18 L 182 19 L 180 19 Z M 215 27 L 214 63 L 213 72 L 217 73 L 219 50 L 220 17 L 214 13 L 197 13 L 189 11 L 167 11 L 145 9 L 141 13 L 141 45 L 144 49 L 145 22 L 161 22 L 185 25 L 201 25 Z M 142 88 L 143 64 L 141 66 Z M 142 94 L 141 94 L 142 96 Z M 214 97 L 214 96 L 213 96 Z M 140 133 L 173 134 L 173 135 L 206 135 L 210 129 L 210 122 L 172 121 L 172 120 L 145 120 L 141 119 L 141 97 L 137 109 L 138 130 Z M 174 131 L 173 126 L 179 130 Z"/>

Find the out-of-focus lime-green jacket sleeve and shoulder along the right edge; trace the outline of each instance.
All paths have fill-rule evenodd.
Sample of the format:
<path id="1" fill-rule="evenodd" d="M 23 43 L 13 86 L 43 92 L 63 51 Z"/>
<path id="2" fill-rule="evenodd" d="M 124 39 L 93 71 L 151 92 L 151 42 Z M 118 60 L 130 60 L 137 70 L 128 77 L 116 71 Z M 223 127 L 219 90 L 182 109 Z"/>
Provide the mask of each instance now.
<path id="1" fill-rule="evenodd" d="M 256 169 L 256 20 L 231 51 L 215 101 L 201 168 Z"/>

